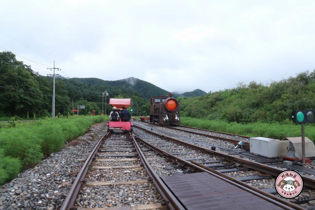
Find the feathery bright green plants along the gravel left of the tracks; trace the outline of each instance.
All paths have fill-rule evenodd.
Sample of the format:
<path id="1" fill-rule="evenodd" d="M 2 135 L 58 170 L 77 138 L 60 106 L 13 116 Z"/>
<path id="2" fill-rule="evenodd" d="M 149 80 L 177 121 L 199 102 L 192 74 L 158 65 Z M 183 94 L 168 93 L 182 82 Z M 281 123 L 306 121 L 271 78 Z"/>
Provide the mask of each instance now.
<path id="1" fill-rule="evenodd" d="M 66 141 L 83 135 L 106 116 L 72 116 L 47 118 L 32 122 L 1 124 L 0 185 L 12 180 L 21 170 L 59 151 Z"/>

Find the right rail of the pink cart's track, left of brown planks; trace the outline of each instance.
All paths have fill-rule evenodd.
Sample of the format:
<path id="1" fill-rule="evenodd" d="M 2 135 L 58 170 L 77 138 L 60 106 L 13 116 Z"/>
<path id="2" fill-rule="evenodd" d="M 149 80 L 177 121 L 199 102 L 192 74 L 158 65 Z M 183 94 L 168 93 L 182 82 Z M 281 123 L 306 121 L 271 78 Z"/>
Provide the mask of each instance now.
<path id="1" fill-rule="evenodd" d="M 184 210 L 185 208 L 180 204 L 180 202 L 175 198 L 175 196 L 172 194 L 172 192 L 168 189 L 168 187 L 164 184 L 164 182 L 159 178 L 157 173 L 153 170 L 150 163 L 147 161 L 145 155 L 141 151 L 138 143 L 136 142 L 134 136 L 132 135 L 132 140 L 135 145 L 135 148 L 140 156 L 140 160 L 143 164 L 143 166 L 146 169 L 146 172 L 148 175 L 152 178 L 152 182 L 165 200 L 165 202 L 162 202 L 162 204 L 167 204 L 170 209 L 173 210 Z"/>

